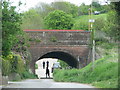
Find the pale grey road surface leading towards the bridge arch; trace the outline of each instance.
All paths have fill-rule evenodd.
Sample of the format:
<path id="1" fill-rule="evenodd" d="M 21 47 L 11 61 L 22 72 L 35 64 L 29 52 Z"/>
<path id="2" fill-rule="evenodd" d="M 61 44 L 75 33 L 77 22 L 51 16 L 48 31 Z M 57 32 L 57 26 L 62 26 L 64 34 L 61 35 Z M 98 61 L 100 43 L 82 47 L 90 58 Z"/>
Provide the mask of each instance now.
<path id="1" fill-rule="evenodd" d="M 54 82 L 53 79 L 28 79 L 9 82 L 3 88 L 94 88 L 91 85 L 69 82 Z"/>

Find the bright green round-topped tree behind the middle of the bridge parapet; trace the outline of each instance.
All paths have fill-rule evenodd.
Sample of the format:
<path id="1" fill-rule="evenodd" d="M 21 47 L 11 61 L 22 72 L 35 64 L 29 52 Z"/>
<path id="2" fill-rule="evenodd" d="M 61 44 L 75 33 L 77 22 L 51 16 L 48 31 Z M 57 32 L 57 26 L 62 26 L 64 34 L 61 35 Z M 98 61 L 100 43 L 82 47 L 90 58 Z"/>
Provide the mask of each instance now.
<path id="1" fill-rule="evenodd" d="M 61 10 L 55 10 L 45 17 L 47 29 L 71 29 L 73 18 Z"/>

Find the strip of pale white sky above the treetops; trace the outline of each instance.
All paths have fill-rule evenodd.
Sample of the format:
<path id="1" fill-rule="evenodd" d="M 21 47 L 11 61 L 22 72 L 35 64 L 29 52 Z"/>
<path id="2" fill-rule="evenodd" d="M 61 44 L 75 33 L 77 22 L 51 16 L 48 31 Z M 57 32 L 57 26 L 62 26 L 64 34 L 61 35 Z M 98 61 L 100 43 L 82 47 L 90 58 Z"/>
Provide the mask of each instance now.
<path id="1" fill-rule="evenodd" d="M 54 1 L 68 1 L 70 3 L 77 5 L 77 6 L 79 6 L 82 3 L 89 5 L 92 2 L 92 0 L 9 0 L 9 1 L 13 2 L 12 3 L 13 6 L 17 6 L 18 2 L 21 1 L 23 3 L 23 5 L 20 8 L 21 11 L 28 11 L 30 8 L 35 7 L 40 2 L 50 4 L 51 2 L 54 2 Z M 93 1 L 96 1 L 96 0 L 93 0 Z M 101 1 L 101 3 L 102 3 L 105 0 L 99 0 L 99 1 Z"/>

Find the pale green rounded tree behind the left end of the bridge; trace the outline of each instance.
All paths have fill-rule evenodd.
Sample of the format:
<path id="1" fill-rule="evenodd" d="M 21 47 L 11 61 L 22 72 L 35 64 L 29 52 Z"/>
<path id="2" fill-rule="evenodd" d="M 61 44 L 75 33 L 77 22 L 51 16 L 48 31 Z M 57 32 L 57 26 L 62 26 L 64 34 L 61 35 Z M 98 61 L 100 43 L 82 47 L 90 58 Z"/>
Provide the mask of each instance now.
<path id="1" fill-rule="evenodd" d="M 22 29 L 43 29 L 43 19 L 34 9 L 30 9 L 23 14 L 21 27 Z"/>

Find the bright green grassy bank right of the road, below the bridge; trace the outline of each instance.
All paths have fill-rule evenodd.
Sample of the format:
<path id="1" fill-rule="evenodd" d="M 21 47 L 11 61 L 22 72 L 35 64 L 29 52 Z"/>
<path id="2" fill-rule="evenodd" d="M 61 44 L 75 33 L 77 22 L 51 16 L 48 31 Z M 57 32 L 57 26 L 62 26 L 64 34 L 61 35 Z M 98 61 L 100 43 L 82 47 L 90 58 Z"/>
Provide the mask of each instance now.
<path id="1" fill-rule="evenodd" d="M 95 61 L 95 68 L 92 63 L 78 70 L 56 70 L 54 80 L 59 82 L 89 83 L 99 88 L 118 87 L 118 63 L 109 60 L 112 56 L 105 56 Z"/>

